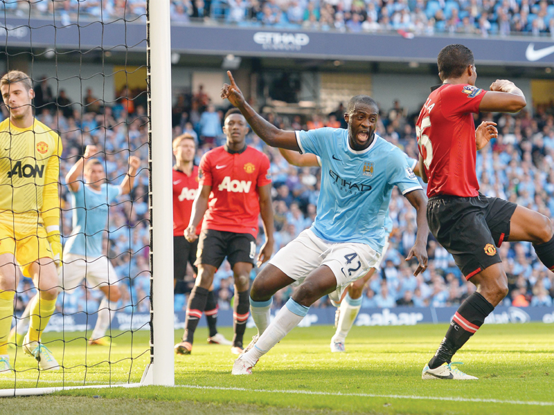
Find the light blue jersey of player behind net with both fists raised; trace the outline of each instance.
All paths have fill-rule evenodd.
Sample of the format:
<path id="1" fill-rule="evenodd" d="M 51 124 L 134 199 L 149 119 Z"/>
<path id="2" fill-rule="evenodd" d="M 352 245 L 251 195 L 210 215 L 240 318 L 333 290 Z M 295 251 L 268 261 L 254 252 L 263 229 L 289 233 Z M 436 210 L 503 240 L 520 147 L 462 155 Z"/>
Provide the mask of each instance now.
<path id="1" fill-rule="evenodd" d="M 102 255 L 102 237 L 107 233 L 109 205 L 120 194 L 121 187 L 104 184 L 100 190 L 80 185 L 71 192 L 73 201 L 73 230 L 67 239 L 64 253 L 98 258 Z"/>

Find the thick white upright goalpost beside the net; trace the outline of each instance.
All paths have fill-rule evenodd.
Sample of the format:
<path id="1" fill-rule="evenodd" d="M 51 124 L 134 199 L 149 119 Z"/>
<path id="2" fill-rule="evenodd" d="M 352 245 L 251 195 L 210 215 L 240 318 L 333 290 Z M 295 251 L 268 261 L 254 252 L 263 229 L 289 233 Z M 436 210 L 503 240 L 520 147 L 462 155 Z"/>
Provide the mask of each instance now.
<path id="1" fill-rule="evenodd" d="M 173 353 L 173 205 L 171 156 L 170 2 L 148 5 L 148 109 L 150 113 L 151 361 L 144 384 L 175 385 Z M 152 376 L 150 376 L 152 371 Z"/>

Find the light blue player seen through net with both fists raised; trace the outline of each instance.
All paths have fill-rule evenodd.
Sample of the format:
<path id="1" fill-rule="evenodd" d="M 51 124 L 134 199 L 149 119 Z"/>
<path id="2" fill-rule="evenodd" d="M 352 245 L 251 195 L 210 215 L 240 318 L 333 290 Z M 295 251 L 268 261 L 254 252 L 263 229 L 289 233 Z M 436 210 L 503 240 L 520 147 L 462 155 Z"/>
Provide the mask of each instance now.
<path id="1" fill-rule="evenodd" d="M 121 294 L 116 271 L 107 252 L 102 252 L 102 239 L 107 233 L 109 206 L 119 196 L 131 192 L 141 160 L 130 156 L 129 171 L 121 185 L 115 186 L 106 183 L 102 162 L 92 158 L 95 154 L 98 154 L 96 146 L 87 145 L 82 158 L 66 176 L 73 204 L 73 230 L 64 246 L 64 264 L 59 270 L 59 284 L 64 291 L 71 292 L 81 286 L 84 280 L 87 288 L 98 288 L 105 294 L 89 339 L 89 344 L 103 346 L 109 344 L 105 340 L 105 333 L 114 318 Z M 83 178 L 84 185 L 81 184 Z M 26 310 L 17 323 L 17 333 L 24 333 L 27 315 Z"/>

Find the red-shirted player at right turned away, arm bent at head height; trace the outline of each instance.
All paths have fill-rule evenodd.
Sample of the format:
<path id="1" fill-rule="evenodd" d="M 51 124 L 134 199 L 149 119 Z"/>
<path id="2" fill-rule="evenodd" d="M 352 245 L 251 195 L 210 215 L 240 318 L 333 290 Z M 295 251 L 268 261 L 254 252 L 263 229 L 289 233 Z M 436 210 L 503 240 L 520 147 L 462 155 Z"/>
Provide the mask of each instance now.
<path id="1" fill-rule="evenodd" d="M 437 63 L 443 84 L 432 89 L 415 126 L 420 171 L 429 184 L 427 221 L 477 291 L 456 311 L 422 379 L 469 380 L 476 377 L 452 367 L 452 356 L 508 293 L 497 247 L 508 240 L 533 242 L 539 259 L 552 269 L 553 229 L 542 214 L 479 193 L 476 150 L 496 137 L 497 130 L 494 122 L 483 122 L 475 131 L 473 114 L 517 112 L 526 105 L 524 94 L 507 80 L 497 80 L 490 91 L 476 87 L 473 53 L 463 45 L 443 48 Z"/>

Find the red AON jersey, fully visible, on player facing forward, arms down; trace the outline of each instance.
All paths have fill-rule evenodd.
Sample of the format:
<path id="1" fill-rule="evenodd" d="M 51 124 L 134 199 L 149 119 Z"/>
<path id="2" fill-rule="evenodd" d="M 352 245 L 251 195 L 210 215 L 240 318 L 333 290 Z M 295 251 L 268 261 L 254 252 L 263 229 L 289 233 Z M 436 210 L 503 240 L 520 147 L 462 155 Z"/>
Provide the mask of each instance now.
<path id="1" fill-rule="evenodd" d="M 200 161 L 200 185 L 211 186 L 202 229 L 258 235 L 258 187 L 271 183 L 269 158 L 252 147 L 208 151 Z"/>

